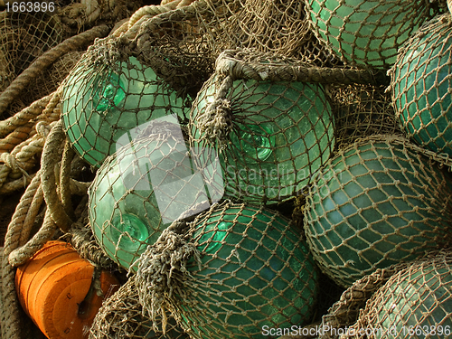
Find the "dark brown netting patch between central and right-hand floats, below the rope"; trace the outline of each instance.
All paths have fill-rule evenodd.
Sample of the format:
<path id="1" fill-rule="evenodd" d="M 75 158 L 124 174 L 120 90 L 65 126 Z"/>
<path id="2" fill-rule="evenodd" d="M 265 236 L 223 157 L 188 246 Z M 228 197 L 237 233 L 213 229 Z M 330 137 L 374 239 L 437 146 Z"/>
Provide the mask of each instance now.
<path id="1" fill-rule="evenodd" d="M 349 85 L 331 89 L 336 146 L 348 146 L 358 137 L 401 135 L 385 86 Z"/>

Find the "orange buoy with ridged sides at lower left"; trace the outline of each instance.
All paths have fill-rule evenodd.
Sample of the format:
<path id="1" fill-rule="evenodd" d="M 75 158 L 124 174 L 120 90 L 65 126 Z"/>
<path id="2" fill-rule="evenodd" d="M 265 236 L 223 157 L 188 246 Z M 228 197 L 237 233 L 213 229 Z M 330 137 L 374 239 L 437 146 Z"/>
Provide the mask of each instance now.
<path id="1" fill-rule="evenodd" d="M 118 287 L 117 278 L 95 271 L 70 244 L 59 240 L 47 242 L 15 276 L 21 305 L 49 339 L 88 338 L 102 301 Z"/>

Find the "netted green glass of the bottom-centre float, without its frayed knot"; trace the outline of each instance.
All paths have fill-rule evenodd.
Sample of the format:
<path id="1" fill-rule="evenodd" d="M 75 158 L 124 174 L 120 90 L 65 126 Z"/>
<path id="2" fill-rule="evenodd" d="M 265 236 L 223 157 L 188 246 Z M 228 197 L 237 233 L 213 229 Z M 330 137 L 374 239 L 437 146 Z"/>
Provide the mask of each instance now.
<path id="1" fill-rule="evenodd" d="M 306 242 L 286 218 L 227 202 L 195 221 L 192 230 L 202 261 L 201 269 L 189 268 L 197 306 L 174 302 L 191 337 L 260 338 L 265 326 L 311 319 L 318 274 Z"/>

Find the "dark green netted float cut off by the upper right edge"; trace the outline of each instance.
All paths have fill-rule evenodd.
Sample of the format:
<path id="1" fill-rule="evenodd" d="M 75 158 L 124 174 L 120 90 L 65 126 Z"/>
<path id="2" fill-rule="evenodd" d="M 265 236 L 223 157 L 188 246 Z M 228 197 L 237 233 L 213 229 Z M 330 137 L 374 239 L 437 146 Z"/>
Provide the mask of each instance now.
<path id="1" fill-rule="evenodd" d="M 452 28 L 448 15 L 413 35 L 391 70 L 392 100 L 408 136 L 420 146 L 452 155 L 450 98 Z"/>

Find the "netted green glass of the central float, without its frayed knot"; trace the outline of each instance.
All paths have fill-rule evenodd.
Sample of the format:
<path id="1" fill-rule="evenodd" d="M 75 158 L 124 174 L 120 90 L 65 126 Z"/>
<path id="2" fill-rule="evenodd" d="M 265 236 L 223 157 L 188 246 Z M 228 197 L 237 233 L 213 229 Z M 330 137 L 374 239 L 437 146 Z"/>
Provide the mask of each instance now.
<path id="1" fill-rule="evenodd" d="M 205 141 L 202 118 L 220 86 L 213 75 L 193 103 L 193 149 L 212 145 Z M 227 100 L 231 130 L 222 145 L 215 141 L 212 146 L 223 177 L 210 177 L 218 185 L 224 183 L 225 196 L 246 202 L 284 201 L 302 190 L 331 155 L 334 118 L 321 85 L 235 80 Z"/>

